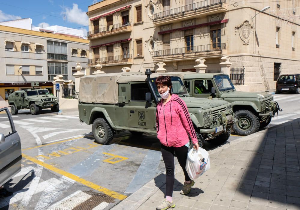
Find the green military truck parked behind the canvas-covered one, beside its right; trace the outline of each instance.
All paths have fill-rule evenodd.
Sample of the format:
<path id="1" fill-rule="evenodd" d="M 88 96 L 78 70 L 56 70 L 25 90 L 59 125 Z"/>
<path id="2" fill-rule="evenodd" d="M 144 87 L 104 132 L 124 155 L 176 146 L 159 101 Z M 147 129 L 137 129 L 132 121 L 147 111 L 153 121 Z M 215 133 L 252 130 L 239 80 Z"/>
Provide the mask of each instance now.
<path id="1" fill-rule="evenodd" d="M 247 136 L 264 128 L 272 116 L 282 111 L 271 94 L 236 91 L 229 76 L 223 73 L 169 72 L 179 76 L 189 94 L 196 98 L 216 98 L 228 101 L 233 106 L 237 122 L 233 125 L 236 134 Z"/>

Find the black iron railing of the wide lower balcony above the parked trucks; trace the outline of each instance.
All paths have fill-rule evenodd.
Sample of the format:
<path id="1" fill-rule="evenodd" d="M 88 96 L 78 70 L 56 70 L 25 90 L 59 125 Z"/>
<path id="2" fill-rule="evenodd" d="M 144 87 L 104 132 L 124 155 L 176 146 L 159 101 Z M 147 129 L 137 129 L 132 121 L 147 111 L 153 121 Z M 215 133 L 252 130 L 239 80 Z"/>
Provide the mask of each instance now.
<path id="1" fill-rule="evenodd" d="M 214 43 L 214 44 L 205 44 L 199 46 L 187 46 L 181 48 L 174 49 L 163 49 L 154 52 L 155 56 L 163 56 L 163 55 L 178 55 L 178 54 L 186 54 L 193 52 L 210 52 L 215 50 L 226 49 L 226 43 Z"/>

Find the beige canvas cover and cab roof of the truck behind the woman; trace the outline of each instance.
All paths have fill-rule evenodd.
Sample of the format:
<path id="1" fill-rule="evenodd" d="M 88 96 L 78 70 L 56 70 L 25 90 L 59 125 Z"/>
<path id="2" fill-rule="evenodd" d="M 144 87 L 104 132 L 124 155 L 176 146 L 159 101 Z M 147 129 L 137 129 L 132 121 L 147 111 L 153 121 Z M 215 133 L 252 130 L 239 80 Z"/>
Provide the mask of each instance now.
<path id="1" fill-rule="evenodd" d="M 118 83 L 145 81 L 141 72 L 107 73 L 80 78 L 79 100 L 85 103 L 118 103 Z"/>

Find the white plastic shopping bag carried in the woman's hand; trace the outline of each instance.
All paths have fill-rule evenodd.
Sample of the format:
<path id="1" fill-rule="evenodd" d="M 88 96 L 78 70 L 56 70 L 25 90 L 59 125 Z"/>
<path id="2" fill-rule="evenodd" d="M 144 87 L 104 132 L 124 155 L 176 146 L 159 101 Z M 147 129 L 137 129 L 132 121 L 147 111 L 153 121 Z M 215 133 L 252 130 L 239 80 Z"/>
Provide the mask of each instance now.
<path id="1" fill-rule="evenodd" d="M 205 149 L 199 147 L 198 151 L 189 147 L 186 159 L 186 171 L 191 179 L 199 178 L 205 171 L 210 169 L 209 154 Z"/>

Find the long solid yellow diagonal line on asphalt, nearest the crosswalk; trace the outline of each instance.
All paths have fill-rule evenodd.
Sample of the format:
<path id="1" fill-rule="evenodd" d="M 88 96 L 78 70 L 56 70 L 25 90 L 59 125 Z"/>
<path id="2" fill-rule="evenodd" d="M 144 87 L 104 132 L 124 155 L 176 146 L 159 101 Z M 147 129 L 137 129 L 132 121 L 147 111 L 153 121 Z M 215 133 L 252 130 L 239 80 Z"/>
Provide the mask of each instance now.
<path id="1" fill-rule="evenodd" d="M 42 167 L 44 167 L 44 168 L 46 168 L 46 169 L 48 169 L 50 171 L 58 173 L 58 174 L 60 174 L 62 176 L 66 176 L 66 177 L 68 177 L 70 179 L 73 179 L 76 182 L 79 182 L 79 183 L 81 183 L 81 184 L 83 184 L 83 185 L 85 185 L 87 187 L 90 187 L 90 188 L 92 188 L 94 190 L 98 190 L 98 191 L 100 191 L 100 192 L 102 192 L 102 193 L 104 193 L 104 194 L 106 194 L 108 196 L 111 196 L 113 198 L 116 198 L 116 199 L 119 199 L 119 200 L 123 200 L 123 199 L 125 199 L 127 197 L 126 195 L 122 195 L 120 193 L 117 193 L 117 192 L 114 192 L 112 190 L 109 190 L 109 189 L 107 189 L 105 187 L 101 187 L 101 186 L 99 186 L 97 184 L 94 184 L 94 183 L 89 182 L 89 181 L 87 181 L 85 179 L 82 179 L 79 176 L 76 176 L 74 174 L 68 173 L 68 172 L 66 172 L 64 170 L 61 170 L 59 168 L 56 168 L 56 167 L 54 167 L 54 166 L 52 166 L 50 164 L 46 164 L 46 163 L 44 163 L 42 161 L 39 161 L 38 159 L 32 158 L 32 157 L 30 157 L 28 155 L 25 155 L 23 153 L 22 153 L 22 156 L 24 158 L 26 158 L 27 160 L 32 161 L 33 163 L 38 164 L 38 165 L 40 165 L 40 166 L 42 166 Z"/>

